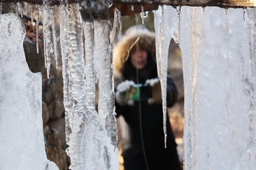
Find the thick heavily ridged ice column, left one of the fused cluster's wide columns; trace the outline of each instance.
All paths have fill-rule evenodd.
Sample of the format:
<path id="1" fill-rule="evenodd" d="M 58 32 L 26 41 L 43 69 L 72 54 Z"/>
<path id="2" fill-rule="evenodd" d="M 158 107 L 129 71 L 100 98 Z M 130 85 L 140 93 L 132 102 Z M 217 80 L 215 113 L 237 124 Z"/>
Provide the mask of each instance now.
<path id="1" fill-rule="evenodd" d="M 90 121 L 96 121 L 96 115 L 89 115 L 86 107 L 86 82 L 84 79 L 84 47 L 82 43 L 82 18 L 79 3 L 69 6 L 69 80 L 71 138 L 69 140 L 69 153 L 71 158 L 70 169 L 90 169 L 86 167 L 86 142 L 90 136 Z M 94 124 L 94 125 L 93 125 Z M 92 126 L 95 127 L 95 123 Z M 93 136 L 93 132 L 91 132 Z M 92 140 L 92 138 L 91 138 Z M 84 141 L 84 142 L 81 142 Z M 96 149 L 96 148 L 95 148 Z M 86 168 L 85 168 L 86 167 Z"/>

